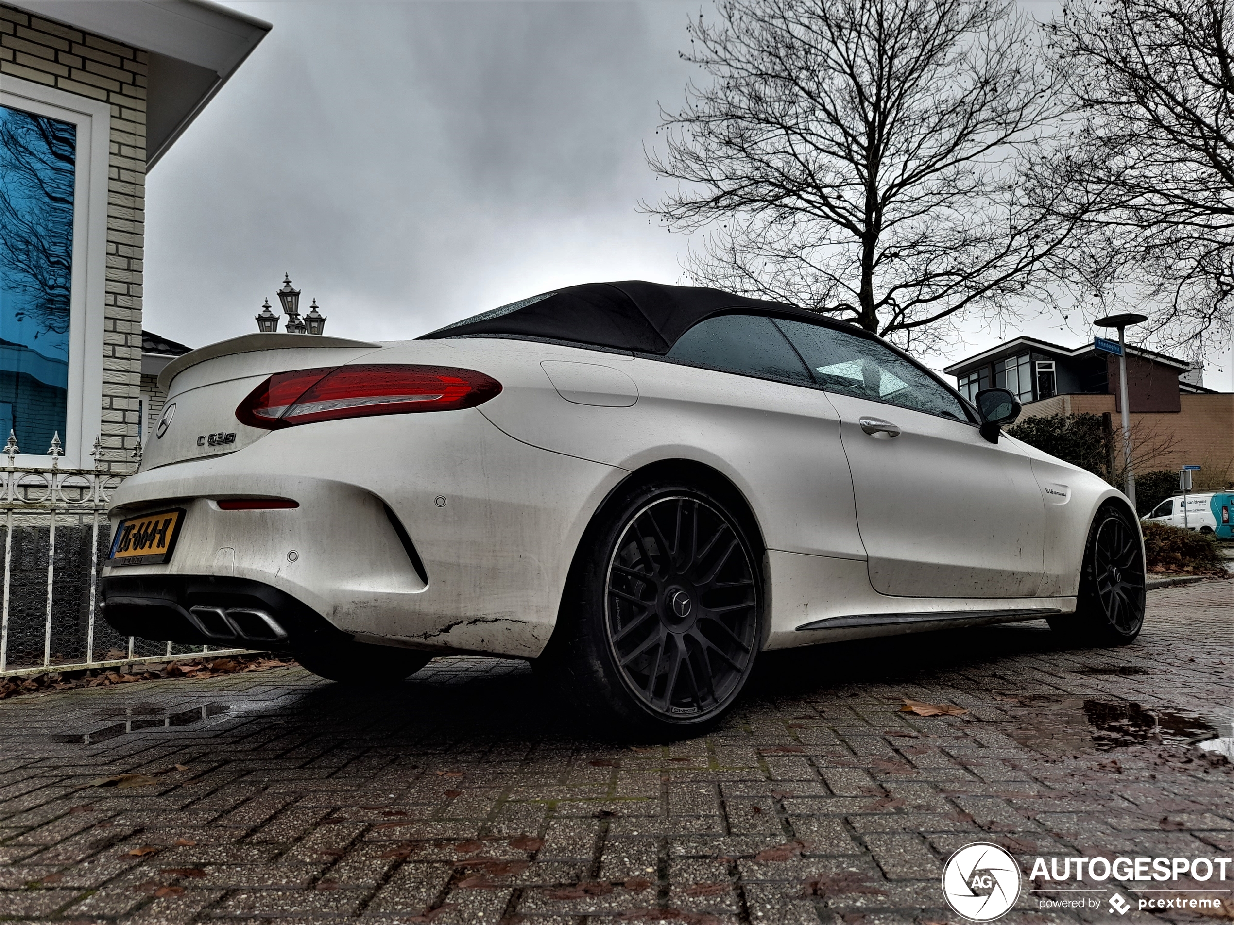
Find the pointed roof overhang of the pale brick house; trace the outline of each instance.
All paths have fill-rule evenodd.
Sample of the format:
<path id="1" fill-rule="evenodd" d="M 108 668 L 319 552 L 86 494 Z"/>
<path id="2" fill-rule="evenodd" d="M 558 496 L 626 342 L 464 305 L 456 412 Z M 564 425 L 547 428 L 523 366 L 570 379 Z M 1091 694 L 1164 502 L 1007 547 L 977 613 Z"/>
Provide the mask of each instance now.
<path id="1" fill-rule="evenodd" d="M 5 0 L 36 16 L 149 52 L 146 168 L 167 153 L 270 31 L 209 0 Z"/>

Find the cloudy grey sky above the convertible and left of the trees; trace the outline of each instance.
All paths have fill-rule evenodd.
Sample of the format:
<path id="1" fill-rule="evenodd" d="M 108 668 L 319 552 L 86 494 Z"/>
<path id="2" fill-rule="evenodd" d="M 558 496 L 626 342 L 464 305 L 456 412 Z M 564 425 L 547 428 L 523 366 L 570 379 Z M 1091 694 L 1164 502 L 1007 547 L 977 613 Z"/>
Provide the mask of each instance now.
<path id="1" fill-rule="evenodd" d="M 643 146 L 696 73 L 677 52 L 710 4 L 227 5 L 274 28 L 148 178 L 147 329 L 194 347 L 253 331 L 284 271 L 328 333 L 365 339 L 575 282 L 682 281 L 687 238 L 636 204 L 658 196 Z M 1211 359 L 1206 384 L 1229 390 L 1229 355 Z"/>

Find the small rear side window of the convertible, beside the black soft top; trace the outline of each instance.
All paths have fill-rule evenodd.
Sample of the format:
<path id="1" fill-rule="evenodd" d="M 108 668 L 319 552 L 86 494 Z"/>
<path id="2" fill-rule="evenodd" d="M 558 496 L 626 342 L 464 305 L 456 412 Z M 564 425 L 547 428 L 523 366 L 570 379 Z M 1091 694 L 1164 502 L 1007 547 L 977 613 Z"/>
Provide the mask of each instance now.
<path id="1" fill-rule="evenodd" d="M 701 321 L 677 339 L 666 359 L 743 376 L 813 385 L 784 334 L 760 314 L 719 314 Z"/>

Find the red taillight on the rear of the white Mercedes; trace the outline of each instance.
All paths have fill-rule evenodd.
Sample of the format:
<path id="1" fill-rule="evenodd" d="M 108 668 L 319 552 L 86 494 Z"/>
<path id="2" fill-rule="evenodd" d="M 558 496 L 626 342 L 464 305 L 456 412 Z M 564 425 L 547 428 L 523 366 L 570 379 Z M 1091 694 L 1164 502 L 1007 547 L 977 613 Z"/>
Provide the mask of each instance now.
<path id="1" fill-rule="evenodd" d="M 242 424 L 275 430 L 316 421 L 471 408 L 501 382 L 470 369 L 363 364 L 275 372 L 236 408 Z"/>

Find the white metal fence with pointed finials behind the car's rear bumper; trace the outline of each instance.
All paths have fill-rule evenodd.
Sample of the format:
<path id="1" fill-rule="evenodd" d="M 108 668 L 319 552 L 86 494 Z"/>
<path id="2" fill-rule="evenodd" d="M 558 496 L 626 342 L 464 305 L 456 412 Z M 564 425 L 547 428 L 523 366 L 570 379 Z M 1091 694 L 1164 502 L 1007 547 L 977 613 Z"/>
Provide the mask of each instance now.
<path id="1" fill-rule="evenodd" d="M 5 527 L 0 676 L 243 651 L 121 636 L 100 619 L 99 574 L 110 539 L 107 508 L 125 476 L 101 469 L 99 440 L 91 453 L 93 469 L 59 465 L 64 455 L 59 434 L 47 449 L 49 465 L 17 466 L 19 451 L 10 432 L 0 450 L 9 458 L 0 469 Z M 123 461 L 139 460 L 138 444 Z"/>

